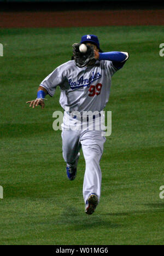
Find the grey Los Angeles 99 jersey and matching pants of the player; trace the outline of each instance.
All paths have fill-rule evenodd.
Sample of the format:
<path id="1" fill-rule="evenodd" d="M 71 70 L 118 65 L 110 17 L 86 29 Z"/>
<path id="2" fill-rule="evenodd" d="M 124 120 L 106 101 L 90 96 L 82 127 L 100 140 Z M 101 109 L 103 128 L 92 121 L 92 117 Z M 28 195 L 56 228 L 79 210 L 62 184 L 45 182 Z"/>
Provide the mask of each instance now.
<path id="1" fill-rule="evenodd" d="M 62 124 L 63 158 L 68 167 L 76 167 L 76 160 L 82 147 L 86 162 L 83 185 L 85 202 L 91 193 L 95 193 L 98 199 L 101 195 L 102 173 L 99 162 L 106 138 L 102 136 L 102 129 L 69 128 L 81 127 L 81 121 L 86 123 L 86 126 L 90 125 L 89 120 L 81 120 L 73 113 L 74 111 L 80 114 L 89 110 L 100 113 L 104 109 L 109 100 L 111 78 L 117 70 L 112 61 L 96 61 L 93 66 L 79 68 L 72 60 L 57 67 L 40 84 L 50 96 L 53 96 L 56 87 L 60 86 L 60 104 L 65 110 Z M 99 115 L 95 115 L 92 123 L 95 123 L 97 118 Z"/>

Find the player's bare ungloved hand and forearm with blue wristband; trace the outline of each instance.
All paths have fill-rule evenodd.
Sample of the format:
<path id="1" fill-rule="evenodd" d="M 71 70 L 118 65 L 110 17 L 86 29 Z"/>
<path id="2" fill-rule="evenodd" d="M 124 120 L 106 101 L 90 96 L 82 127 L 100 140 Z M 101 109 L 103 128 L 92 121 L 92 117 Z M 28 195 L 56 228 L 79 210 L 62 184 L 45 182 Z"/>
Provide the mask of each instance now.
<path id="1" fill-rule="evenodd" d="M 34 107 L 37 107 L 38 105 L 40 105 L 43 109 L 45 106 L 44 98 L 45 98 L 46 94 L 48 94 L 47 90 L 45 88 L 43 88 L 42 86 L 39 86 L 36 100 L 27 101 L 26 103 L 30 104 L 29 107 L 34 108 Z"/>

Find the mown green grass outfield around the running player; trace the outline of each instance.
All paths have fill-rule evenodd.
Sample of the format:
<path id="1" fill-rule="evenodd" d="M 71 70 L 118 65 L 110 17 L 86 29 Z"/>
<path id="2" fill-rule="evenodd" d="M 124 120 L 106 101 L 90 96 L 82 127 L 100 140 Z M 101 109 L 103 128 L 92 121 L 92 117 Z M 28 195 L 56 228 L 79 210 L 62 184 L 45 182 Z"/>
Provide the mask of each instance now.
<path id="1" fill-rule="evenodd" d="M 42 80 L 72 55 L 71 45 L 95 33 L 104 51 L 128 51 L 113 77 L 112 135 L 107 137 L 102 196 L 92 216 L 84 213 L 83 154 L 74 182 L 66 177 L 61 131 L 46 107 L 31 109 Z M 164 245 L 164 57 L 162 26 L 1 29 L 1 245 Z"/>

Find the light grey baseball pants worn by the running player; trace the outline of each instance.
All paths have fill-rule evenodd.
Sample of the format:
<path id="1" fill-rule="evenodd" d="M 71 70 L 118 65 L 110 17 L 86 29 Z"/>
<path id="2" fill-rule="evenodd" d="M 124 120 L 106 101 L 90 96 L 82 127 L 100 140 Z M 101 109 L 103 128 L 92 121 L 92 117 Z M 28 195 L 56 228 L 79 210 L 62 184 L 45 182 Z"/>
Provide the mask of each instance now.
<path id="1" fill-rule="evenodd" d="M 65 113 L 62 124 L 63 158 L 68 167 L 77 167 L 78 161 L 76 160 L 79 158 L 82 148 L 86 164 L 83 183 L 85 202 L 91 193 L 96 194 L 98 200 L 101 196 L 102 173 L 99 162 L 103 154 L 103 144 L 106 141 L 103 134 L 101 128 L 99 130 L 88 130 L 88 127 L 81 129 L 81 121 L 73 119 Z"/>

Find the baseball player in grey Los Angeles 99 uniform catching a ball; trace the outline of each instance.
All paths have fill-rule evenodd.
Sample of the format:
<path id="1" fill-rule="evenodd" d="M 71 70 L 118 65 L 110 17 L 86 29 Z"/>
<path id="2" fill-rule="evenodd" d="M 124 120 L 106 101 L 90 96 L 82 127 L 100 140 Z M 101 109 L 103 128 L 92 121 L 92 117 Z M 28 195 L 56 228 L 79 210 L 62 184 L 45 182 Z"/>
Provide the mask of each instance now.
<path id="1" fill-rule="evenodd" d="M 67 177 L 73 181 L 82 148 L 86 163 L 83 184 L 86 214 L 95 211 L 101 196 L 99 162 L 106 141 L 102 136 L 101 111 L 109 100 L 112 76 L 124 66 L 127 59 L 128 53 L 125 52 L 103 53 L 98 37 L 87 34 L 81 37 L 79 44 L 73 44 L 72 60 L 49 74 L 40 84 L 36 100 L 27 102 L 30 107 L 40 105 L 43 109 L 45 96 L 54 96 L 57 86 L 60 86 L 60 104 L 65 110 L 62 124 L 63 159 L 67 164 Z"/>

